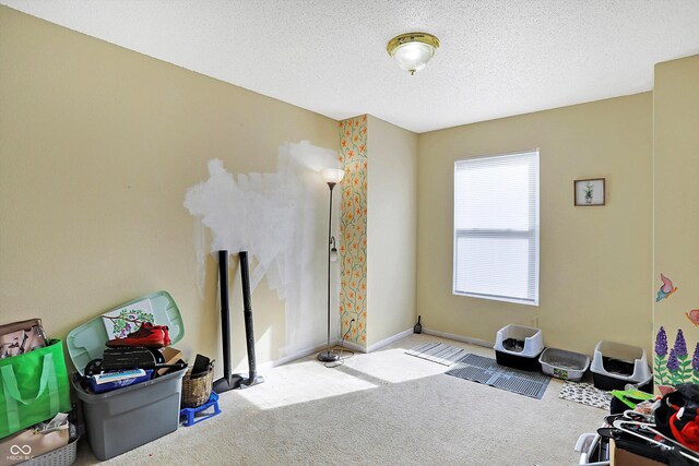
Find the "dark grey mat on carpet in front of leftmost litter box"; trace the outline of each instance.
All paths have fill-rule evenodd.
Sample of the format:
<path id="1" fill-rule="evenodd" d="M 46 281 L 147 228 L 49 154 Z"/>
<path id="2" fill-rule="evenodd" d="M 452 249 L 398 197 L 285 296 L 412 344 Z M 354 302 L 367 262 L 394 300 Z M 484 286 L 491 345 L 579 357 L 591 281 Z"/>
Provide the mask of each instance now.
<path id="1" fill-rule="evenodd" d="M 495 359 L 471 354 L 461 358 L 446 374 L 536 399 L 542 399 L 550 381 L 548 375 L 498 366 Z"/>

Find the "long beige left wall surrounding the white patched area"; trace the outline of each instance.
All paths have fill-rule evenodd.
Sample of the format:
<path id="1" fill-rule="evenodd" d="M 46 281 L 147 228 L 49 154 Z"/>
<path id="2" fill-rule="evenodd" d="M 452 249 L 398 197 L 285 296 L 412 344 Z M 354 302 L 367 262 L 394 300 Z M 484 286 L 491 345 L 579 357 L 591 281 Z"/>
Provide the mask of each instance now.
<path id="1" fill-rule="evenodd" d="M 0 321 L 40 316 L 63 337 L 166 289 L 185 319 L 179 346 L 221 360 L 216 261 L 206 258 L 200 297 L 185 192 L 212 158 L 236 174 L 273 172 L 284 142 L 336 150 L 337 123 L 5 7 L 0 32 Z M 263 280 L 252 295 L 260 362 L 324 342 L 328 189 L 320 177 L 307 182 L 319 248 L 305 266 L 320 280 L 304 292 L 318 319 L 291 319 Z M 233 295 L 237 365 L 242 307 Z M 317 332 L 291 338 L 293 327 Z"/>

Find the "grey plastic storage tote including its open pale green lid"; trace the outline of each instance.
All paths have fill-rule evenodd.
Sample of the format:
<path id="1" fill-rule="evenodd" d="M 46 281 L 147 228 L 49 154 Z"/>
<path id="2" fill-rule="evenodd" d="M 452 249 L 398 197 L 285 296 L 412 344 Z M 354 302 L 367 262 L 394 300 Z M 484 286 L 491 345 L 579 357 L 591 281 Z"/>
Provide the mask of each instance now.
<path id="1" fill-rule="evenodd" d="M 182 319 L 167 291 L 130 301 L 105 314 L 120 314 L 135 308 L 152 313 L 153 323 L 168 325 L 173 343 L 182 338 Z M 105 325 L 100 315 L 68 334 L 68 351 L 81 375 L 87 362 L 102 358 L 105 343 L 111 338 L 108 328 L 112 330 Z M 90 391 L 81 383 L 81 377 L 73 374 L 71 382 L 82 404 L 87 441 L 95 456 L 109 459 L 177 430 L 186 371 L 187 366 L 156 379 L 100 394 Z"/>

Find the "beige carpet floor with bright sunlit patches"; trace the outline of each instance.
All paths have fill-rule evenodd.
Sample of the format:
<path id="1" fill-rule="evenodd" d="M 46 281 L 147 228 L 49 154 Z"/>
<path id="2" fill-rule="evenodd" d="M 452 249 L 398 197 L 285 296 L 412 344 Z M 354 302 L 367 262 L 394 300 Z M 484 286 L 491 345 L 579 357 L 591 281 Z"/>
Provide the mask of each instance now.
<path id="1" fill-rule="evenodd" d="M 107 464 L 167 465 L 550 465 L 578 464 L 578 435 L 604 411 L 558 398 L 553 379 L 534 399 L 445 375 L 405 355 L 436 340 L 412 335 L 328 369 L 313 356 L 263 373 L 265 383 L 221 396 L 223 414 Z M 76 464 L 97 463 L 86 443 Z"/>

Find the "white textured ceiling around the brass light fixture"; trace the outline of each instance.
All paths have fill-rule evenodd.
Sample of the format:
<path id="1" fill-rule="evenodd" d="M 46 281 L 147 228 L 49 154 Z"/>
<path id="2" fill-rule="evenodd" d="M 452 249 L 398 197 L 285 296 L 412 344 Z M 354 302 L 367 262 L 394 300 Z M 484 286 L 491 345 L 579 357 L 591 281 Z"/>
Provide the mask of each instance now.
<path id="1" fill-rule="evenodd" d="M 649 91 L 699 53 L 699 0 L 0 0 L 298 107 L 425 132 Z M 401 33 L 441 47 L 414 76 Z"/>

